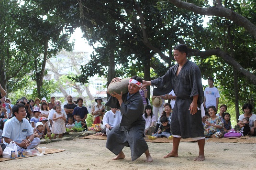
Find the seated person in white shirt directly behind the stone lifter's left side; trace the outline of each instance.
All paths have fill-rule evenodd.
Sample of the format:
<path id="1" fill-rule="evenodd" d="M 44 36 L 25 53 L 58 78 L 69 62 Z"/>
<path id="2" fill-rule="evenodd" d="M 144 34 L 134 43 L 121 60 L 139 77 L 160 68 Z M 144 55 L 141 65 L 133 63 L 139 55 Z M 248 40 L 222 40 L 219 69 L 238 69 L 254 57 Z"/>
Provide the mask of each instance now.
<path id="1" fill-rule="evenodd" d="M 105 113 L 103 117 L 103 130 L 100 133 L 96 133 L 96 135 L 107 136 L 111 129 L 117 126 L 122 120 L 121 112 L 117 110 L 117 108 L 111 108 L 111 110 Z"/>

